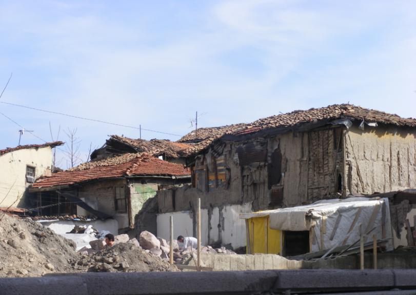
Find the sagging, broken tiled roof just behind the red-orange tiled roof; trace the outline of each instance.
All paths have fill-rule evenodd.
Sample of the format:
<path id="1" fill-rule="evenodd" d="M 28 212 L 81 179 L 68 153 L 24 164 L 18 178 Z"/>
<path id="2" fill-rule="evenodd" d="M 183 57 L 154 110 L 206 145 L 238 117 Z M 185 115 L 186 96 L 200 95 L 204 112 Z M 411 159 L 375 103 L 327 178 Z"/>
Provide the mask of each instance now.
<path id="1" fill-rule="evenodd" d="M 120 143 L 122 146 L 120 146 Z M 125 148 L 123 149 L 123 145 Z M 173 142 L 165 139 L 132 139 L 124 136 L 111 135 L 106 141 L 104 148 L 98 149 L 91 154 L 94 159 L 100 150 L 107 150 L 109 154 L 122 154 L 126 152 L 136 151 L 137 153 L 148 153 L 153 156 L 166 155 L 170 158 L 179 158 L 182 152 L 191 145 L 182 142 Z"/>

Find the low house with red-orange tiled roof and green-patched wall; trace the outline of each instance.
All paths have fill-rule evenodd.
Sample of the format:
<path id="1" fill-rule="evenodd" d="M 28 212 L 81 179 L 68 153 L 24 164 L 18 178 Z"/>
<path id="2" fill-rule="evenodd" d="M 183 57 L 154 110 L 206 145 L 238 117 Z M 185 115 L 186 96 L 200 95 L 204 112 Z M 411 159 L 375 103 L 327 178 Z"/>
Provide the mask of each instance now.
<path id="1" fill-rule="evenodd" d="M 190 177 L 182 164 L 130 153 L 43 177 L 30 191 L 37 193 L 41 215 L 113 217 L 119 232 L 126 232 L 134 227 L 135 215 L 146 200 L 165 187 L 189 183 Z"/>

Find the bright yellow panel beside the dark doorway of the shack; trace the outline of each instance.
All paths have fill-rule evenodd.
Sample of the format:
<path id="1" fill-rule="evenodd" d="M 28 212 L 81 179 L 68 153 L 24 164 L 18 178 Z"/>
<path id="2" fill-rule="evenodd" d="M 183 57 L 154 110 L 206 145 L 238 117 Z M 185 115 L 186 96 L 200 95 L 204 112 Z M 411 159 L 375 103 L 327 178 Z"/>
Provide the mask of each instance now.
<path id="1" fill-rule="evenodd" d="M 267 225 L 267 235 L 265 232 Z M 281 254 L 282 252 L 282 231 L 269 227 L 269 218 L 254 217 L 248 219 L 248 231 L 250 248 L 252 253 Z M 266 247 L 267 237 L 267 247 Z M 248 248 L 247 248 L 248 251 Z"/>

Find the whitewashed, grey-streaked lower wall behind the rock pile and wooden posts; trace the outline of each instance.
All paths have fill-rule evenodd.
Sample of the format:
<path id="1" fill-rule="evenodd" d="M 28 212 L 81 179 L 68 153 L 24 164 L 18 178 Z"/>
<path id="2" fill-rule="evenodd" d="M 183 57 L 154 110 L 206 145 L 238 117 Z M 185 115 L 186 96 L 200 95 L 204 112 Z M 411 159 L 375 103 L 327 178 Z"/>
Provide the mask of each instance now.
<path id="1" fill-rule="evenodd" d="M 202 244 L 246 245 L 246 224 L 241 213 L 251 212 L 251 205 L 231 205 L 201 210 Z M 169 219 L 173 216 L 174 238 L 178 235 L 196 237 L 197 216 L 193 211 L 157 214 L 157 236 L 170 239 Z"/>

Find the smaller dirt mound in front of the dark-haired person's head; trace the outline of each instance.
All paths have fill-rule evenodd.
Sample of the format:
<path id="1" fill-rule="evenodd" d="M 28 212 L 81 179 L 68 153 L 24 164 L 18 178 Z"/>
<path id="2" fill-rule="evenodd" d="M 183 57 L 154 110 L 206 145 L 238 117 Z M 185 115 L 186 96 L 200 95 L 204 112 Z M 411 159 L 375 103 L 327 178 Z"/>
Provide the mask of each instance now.
<path id="1" fill-rule="evenodd" d="M 155 257 L 131 243 L 120 243 L 71 261 L 75 272 L 179 271 L 176 266 Z"/>

